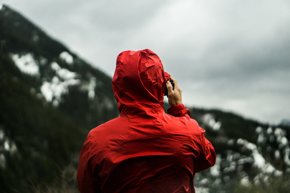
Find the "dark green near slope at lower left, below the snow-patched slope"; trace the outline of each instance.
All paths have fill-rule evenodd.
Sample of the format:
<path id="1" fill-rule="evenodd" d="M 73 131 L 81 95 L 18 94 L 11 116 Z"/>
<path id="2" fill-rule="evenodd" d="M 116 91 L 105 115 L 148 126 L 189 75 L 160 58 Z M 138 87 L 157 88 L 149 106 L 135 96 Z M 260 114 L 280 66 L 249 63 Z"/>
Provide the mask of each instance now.
<path id="1" fill-rule="evenodd" d="M 78 155 L 87 132 L 37 99 L 27 84 L 5 70 L 6 65 L 0 60 L 0 125 L 17 151 L 3 152 L 0 190 L 23 192 L 28 179 L 34 184 L 50 182 L 59 168 L 77 159 L 72 156 Z"/>

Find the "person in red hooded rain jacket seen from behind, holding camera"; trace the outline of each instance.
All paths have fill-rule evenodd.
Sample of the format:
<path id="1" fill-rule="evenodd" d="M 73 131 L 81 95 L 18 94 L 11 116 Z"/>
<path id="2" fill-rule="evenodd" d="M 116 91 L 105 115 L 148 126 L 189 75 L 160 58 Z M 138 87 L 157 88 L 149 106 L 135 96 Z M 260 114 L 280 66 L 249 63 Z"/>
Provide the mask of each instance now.
<path id="1" fill-rule="evenodd" d="M 195 173 L 213 166 L 216 155 L 159 57 L 149 49 L 121 52 L 112 86 L 120 116 L 89 132 L 79 157 L 79 191 L 195 192 Z"/>

